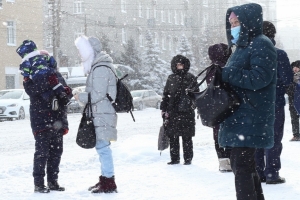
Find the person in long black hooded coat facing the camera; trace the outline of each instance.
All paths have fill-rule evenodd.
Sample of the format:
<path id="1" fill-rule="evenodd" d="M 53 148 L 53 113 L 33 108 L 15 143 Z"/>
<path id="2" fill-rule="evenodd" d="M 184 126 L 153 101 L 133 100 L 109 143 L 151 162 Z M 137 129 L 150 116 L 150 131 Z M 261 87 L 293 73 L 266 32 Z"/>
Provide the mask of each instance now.
<path id="1" fill-rule="evenodd" d="M 174 56 L 171 61 L 173 74 L 169 75 L 160 105 L 162 116 L 167 120 L 166 135 L 170 138 L 169 165 L 180 163 L 179 136 L 182 137 L 184 165 L 193 159 L 193 140 L 195 136 L 195 111 L 192 98 L 185 89 L 196 86 L 195 76 L 189 73 L 190 61 L 182 55 Z M 196 91 L 199 91 L 197 89 Z"/>

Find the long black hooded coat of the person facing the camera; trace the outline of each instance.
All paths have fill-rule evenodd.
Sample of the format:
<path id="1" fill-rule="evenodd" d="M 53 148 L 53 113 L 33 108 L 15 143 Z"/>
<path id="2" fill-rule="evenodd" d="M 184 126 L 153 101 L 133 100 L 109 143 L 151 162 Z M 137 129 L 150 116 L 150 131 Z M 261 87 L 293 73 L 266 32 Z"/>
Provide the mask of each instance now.
<path id="1" fill-rule="evenodd" d="M 177 63 L 184 64 L 183 70 L 177 70 Z M 169 75 L 164 91 L 160 109 L 169 113 L 169 123 L 166 127 L 168 136 L 195 136 L 195 111 L 192 106 L 187 105 L 185 111 L 179 111 L 180 100 L 188 98 L 185 89 L 192 84 L 195 86 L 197 81 L 195 76 L 189 73 L 190 61 L 181 55 L 173 57 L 171 61 L 173 74 Z"/>

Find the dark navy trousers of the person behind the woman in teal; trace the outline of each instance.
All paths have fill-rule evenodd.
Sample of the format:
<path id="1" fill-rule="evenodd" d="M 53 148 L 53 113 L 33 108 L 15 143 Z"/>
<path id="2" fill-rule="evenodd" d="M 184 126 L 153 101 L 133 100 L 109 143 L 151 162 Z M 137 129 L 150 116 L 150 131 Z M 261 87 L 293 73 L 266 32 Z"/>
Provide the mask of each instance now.
<path id="1" fill-rule="evenodd" d="M 284 107 L 275 108 L 274 146 L 271 149 L 257 149 L 256 151 L 256 170 L 261 178 L 277 179 L 279 176 L 284 120 Z M 266 156 L 266 162 L 264 156 Z"/>

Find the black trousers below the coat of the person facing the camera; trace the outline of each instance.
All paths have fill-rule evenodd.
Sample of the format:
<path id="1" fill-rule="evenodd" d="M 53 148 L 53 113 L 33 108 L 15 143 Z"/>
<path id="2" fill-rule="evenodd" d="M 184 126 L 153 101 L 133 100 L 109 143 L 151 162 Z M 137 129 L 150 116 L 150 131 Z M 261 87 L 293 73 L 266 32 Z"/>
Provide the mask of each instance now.
<path id="1" fill-rule="evenodd" d="M 183 158 L 184 161 L 192 161 L 193 159 L 193 140 L 192 137 L 182 136 Z M 170 137 L 170 156 L 171 161 L 180 161 L 180 145 L 179 136 Z"/>

